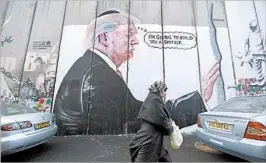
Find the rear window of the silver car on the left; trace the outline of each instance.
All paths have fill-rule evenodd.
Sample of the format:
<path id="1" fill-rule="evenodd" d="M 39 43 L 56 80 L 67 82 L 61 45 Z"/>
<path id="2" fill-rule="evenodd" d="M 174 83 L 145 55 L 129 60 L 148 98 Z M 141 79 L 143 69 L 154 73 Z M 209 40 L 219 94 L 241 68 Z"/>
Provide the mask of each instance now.
<path id="1" fill-rule="evenodd" d="M 37 113 L 36 110 L 19 104 L 0 104 L 0 108 L 2 116 Z"/>

